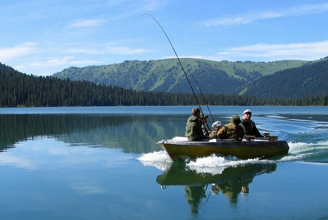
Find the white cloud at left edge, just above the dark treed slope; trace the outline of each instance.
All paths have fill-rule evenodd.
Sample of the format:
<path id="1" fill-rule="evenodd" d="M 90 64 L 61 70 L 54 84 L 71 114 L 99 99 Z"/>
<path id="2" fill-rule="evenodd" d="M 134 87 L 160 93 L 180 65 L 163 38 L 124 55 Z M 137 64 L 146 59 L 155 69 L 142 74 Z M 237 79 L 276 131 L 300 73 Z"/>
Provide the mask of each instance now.
<path id="1" fill-rule="evenodd" d="M 8 61 L 9 59 L 28 55 L 37 51 L 36 43 L 25 42 L 15 47 L 0 48 L 0 60 Z"/>

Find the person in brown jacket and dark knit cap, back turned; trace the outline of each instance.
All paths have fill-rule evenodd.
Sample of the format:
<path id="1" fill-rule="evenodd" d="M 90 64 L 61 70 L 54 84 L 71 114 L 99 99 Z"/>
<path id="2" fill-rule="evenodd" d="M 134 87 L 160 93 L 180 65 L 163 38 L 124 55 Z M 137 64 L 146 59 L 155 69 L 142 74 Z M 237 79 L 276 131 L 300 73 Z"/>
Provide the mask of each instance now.
<path id="1" fill-rule="evenodd" d="M 239 124 L 241 123 L 239 115 L 232 116 L 230 123 L 225 124 L 216 133 L 216 139 L 236 139 L 242 140 L 244 136 L 244 129 Z"/>

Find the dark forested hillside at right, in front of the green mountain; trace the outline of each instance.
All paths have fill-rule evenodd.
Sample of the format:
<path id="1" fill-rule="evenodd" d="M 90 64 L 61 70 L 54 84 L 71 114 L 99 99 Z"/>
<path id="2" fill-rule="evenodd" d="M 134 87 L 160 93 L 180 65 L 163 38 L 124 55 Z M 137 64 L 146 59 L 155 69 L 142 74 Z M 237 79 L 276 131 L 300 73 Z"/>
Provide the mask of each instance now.
<path id="1" fill-rule="evenodd" d="M 254 81 L 244 95 L 299 98 L 328 94 L 328 59 L 278 71 Z"/>

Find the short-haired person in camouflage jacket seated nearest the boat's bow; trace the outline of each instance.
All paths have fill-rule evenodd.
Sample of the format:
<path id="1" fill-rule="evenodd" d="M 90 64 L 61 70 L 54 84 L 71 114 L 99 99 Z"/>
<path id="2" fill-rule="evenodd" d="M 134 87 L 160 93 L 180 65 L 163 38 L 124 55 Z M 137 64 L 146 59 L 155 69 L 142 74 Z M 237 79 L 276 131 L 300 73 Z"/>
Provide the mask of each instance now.
<path id="1" fill-rule="evenodd" d="M 191 141 L 199 141 L 204 138 L 210 138 L 203 134 L 202 125 L 205 120 L 200 119 L 200 109 L 193 108 L 192 116 L 190 116 L 186 123 L 186 137 Z M 202 123 L 203 121 L 203 123 Z"/>

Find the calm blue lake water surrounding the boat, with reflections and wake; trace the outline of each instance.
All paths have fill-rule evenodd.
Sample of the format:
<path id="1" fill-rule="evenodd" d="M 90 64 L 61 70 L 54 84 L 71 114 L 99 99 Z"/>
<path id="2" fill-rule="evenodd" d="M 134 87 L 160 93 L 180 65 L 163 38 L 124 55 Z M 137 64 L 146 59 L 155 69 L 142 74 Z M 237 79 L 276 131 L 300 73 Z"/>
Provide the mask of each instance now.
<path id="1" fill-rule="evenodd" d="M 210 106 L 250 108 L 289 154 L 173 163 L 156 142 L 192 108 L 0 108 L 0 219 L 328 219 L 327 107 Z"/>

